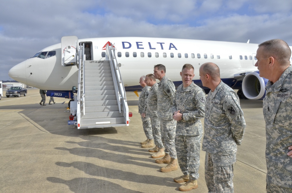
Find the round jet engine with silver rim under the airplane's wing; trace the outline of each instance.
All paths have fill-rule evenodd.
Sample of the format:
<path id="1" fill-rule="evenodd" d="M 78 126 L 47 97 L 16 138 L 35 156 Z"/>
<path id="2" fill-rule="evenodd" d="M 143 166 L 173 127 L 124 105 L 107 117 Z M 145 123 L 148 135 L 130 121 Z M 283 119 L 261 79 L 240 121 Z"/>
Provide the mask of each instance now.
<path id="1" fill-rule="evenodd" d="M 259 71 L 248 73 L 242 81 L 242 92 L 248 99 L 263 99 L 267 82 L 267 79 L 260 77 Z"/>

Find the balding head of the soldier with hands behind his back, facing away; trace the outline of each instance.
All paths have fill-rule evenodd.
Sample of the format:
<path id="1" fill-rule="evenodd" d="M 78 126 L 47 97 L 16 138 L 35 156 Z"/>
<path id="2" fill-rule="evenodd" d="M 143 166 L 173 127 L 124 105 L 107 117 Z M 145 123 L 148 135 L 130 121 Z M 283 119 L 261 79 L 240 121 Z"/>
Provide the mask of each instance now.
<path id="1" fill-rule="evenodd" d="M 199 76 L 203 86 L 210 88 L 212 92 L 221 82 L 220 69 L 212 62 L 202 64 L 199 69 Z"/>

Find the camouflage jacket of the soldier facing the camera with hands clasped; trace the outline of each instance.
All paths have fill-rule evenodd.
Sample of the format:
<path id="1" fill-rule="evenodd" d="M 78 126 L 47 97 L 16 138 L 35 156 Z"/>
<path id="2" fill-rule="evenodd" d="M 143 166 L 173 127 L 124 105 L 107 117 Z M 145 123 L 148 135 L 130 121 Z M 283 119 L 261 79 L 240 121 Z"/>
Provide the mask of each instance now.
<path id="1" fill-rule="evenodd" d="M 203 127 L 201 118 L 205 115 L 206 95 L 203 89 L 192 82 L 185 89 L 181 84 L 173 99 L 172 113 L 180 110 L 183 119 L 176 123 L 176 135 L 201 135 Z"/>

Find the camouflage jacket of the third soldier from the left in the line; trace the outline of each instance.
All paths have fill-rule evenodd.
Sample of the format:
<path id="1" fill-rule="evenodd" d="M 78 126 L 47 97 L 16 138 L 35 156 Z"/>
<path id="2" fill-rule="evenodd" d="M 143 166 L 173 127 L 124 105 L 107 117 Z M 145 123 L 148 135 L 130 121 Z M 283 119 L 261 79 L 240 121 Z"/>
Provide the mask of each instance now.
<path id="1" fill-rule="evenodd" d="M 173 82 L 164 76 L 158 84 L 157 113 L 160 120 L 172 120 L 171 107 L 175 93 Z"/>

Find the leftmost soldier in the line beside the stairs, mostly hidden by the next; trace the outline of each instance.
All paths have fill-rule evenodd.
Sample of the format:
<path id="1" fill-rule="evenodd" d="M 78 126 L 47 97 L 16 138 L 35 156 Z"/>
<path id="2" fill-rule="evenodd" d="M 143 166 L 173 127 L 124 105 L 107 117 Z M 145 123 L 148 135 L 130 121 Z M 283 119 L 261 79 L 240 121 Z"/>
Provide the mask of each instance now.
<path id="1" fill-rule="evenodd" d="M 138 113 L 140 113 L 140 115 L 141 115 L 144 133 L 147 137 L 147 139 L 145 141 L 141 142 L 141 144 L 142 144 L 141 147 L 142 148 L 151 148 L 154 145 L 152 126 L 151 126 L 150 117 L 148 115 L 146 115 L 146 106 L 147 106 L 147 99 L 149 96 L 150 87 L 147 86 L 145 83 L 145 76 L 141 76 L 139 83 L 143 88 L 142 88 L 142 92 L 140 93 L 140 96 L 139 96 Z"/>

